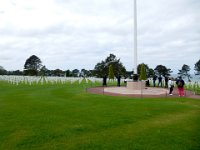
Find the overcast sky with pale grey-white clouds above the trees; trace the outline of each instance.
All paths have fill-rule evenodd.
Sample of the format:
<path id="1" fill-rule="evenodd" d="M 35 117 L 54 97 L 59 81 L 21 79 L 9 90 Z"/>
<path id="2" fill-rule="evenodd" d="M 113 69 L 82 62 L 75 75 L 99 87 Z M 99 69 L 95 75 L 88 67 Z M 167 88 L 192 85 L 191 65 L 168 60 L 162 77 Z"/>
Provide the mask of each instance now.
<path id="1" fill-rule="evenodd" d="M 200 59 L 200 0 L 138 0 L 138 63 L 174 73 Z M 113 53 L 133 69 L 133 0 L 0 0 L 0 66 L 93 69 Z"/>

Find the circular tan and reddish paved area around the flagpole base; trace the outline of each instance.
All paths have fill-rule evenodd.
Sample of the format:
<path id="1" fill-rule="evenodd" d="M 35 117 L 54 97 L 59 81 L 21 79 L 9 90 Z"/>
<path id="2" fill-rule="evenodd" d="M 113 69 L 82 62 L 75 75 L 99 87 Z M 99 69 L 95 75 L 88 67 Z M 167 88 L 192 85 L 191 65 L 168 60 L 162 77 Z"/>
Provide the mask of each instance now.
<path id="1" fill-rule="evenodd" d="M 173 95 L 170 96 L 169 89 L 165 88 L 153 88 L 148 87 L 143 90 L 131 90 L 126 87 L 94 87 L 87 89 L 87 92 L 95 94 L 105 94 L 112 96 L 127 96 L 127 97 L 179 97 L 177 89 L 173 91 Z M 200 100 L 200 95 L 195 95 L 191 91 L 185 90 L 185 97 L 195 98 Z"/>

